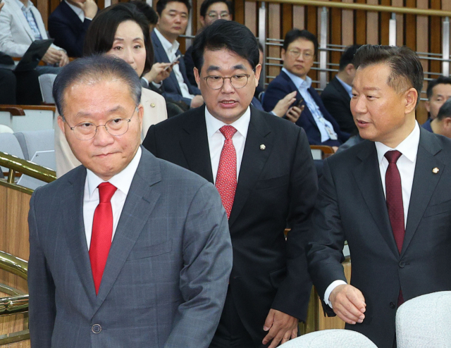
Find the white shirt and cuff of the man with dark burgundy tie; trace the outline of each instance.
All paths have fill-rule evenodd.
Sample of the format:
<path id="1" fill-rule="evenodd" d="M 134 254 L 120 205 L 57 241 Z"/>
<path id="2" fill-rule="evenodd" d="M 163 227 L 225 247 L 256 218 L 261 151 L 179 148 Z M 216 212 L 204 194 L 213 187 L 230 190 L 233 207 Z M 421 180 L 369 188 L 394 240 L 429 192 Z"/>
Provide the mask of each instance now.
<path id="1" fill-rule="evenodd" d="M 395 149 L 382 144 L 381 142 L 375 142 L 376 151 L 378 153 L 379 170 L 381 171 L 381 180 L 383 187 L 383 194 L 385 194 L 385 173 L 388 168 L 388 160 L 385 159 L 385 152 L 397 150 L 400 151 L 402 156 L 397 160 L 396 166 L 400 171 L 401 177 L 401 189 L 402 189 L 402 207 L 404 208 L 404 229 L 407 226 L 407 213 L 409 213 L 410 195 L 412 194 L 412 185 L 414 183 L 416 154 L 418 153 L 418 145 L 420 142 L 420 128 L 415 121 L 414 130 L 405 138 Z M 352 257 L 352 255 L 351 255 Z M 338 285 L 346 284 L 342 280 L 333 281 L 324 292 L 324 302 L 332 308 L 330 304 L 330 293 L 338 287 Z"/>

